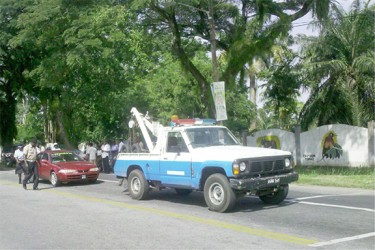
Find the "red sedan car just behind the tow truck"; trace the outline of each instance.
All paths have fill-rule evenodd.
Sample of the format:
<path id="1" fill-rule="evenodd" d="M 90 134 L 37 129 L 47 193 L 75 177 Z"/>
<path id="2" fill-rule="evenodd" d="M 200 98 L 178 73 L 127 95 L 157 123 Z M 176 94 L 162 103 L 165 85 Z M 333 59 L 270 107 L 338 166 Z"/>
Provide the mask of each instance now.
<path id="1" fill-rule="evenodd" d="M 99 177 L 95 164 L 69 150 L 46 150 L 37 155 L 39 178 L 54 187 L 68 182 L 92 182 Z"/>

